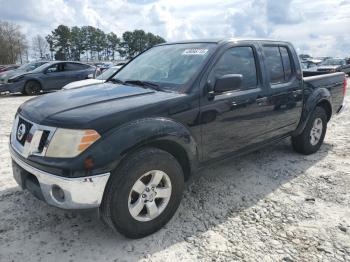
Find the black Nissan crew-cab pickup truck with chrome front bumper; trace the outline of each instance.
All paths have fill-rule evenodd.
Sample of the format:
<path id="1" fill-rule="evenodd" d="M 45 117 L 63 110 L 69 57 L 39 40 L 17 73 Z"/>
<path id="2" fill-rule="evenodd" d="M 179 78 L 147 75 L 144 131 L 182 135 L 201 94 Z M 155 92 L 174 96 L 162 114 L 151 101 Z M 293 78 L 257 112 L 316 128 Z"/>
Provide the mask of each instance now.
<path id="1" fill-rule="evenodd" d="M 13 173 L 64 209 L 96 208 L 131 238 L 160 229 L 206 163 L 291 137 L 316 152 L 343 108 L 344 73 L 302 77 L 287 42 L 155 46 L 106 83 L 28 100 L 10 138 Z"/>

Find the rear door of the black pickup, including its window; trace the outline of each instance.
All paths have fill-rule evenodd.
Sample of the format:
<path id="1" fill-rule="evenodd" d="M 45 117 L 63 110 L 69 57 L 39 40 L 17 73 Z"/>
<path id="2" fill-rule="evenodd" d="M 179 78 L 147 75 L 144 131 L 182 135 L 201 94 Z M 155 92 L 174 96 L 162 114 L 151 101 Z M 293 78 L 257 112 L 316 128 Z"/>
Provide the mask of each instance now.
<path id="1" fill-rule="evenodd" d="M 302 112 L 302 76 L 295 64 L 297 55 L 289 45 L 262 45 L 267 86 L 268 119 L 274 127 L 271 136 L 283 135 L 296 129 Z"/>

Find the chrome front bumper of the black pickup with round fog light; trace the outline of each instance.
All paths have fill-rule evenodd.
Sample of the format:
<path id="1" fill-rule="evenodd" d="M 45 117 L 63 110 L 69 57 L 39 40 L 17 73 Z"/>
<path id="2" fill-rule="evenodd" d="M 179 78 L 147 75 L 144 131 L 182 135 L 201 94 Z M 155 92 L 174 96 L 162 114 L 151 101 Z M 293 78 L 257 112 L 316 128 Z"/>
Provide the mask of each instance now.
<path id="1" fill-rule="evenodd" d="M 24 162 L 10 145 L 13 176 L 22 189 L 63 209 L 99 207 L 110 173 L 67 178 L 39 170 Z"/>

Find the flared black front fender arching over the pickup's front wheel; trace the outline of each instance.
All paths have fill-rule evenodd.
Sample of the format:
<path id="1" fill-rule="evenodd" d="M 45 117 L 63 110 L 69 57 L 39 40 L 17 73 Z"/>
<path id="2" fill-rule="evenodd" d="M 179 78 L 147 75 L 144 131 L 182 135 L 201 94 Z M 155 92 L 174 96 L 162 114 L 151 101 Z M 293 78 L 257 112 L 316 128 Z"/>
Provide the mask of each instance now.
<path id="1" fill-rule="evenodd" d="M 181 146 L 190 164 L 196 165 L 197 143 L 190 130 L 179 122 L 163 117 L 140 119 L 112 129 L 86 153 L 93 157 L 98 169 L 102 168 L 99 172 L 109 172 L 114 170 L 128 153 L 162 141 Z"/>

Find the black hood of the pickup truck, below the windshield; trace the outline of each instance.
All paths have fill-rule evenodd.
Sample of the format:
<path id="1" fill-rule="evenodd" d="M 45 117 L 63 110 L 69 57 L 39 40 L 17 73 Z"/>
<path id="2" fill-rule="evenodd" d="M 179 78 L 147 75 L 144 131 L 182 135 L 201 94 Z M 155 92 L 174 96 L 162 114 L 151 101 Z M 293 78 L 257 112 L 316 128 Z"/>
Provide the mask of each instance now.
<path id="1" fill-rule="evenodd" d="M 180 96 L 183 94 L 106 82 L 33 98 L 22 104 L 19 113 L 41 125 L 104 132 L 137 118 L 140 110 L 153 106 L 157 111 L 158 103 Z M 122 113 L 125 111 L 128 114 Z"/>

